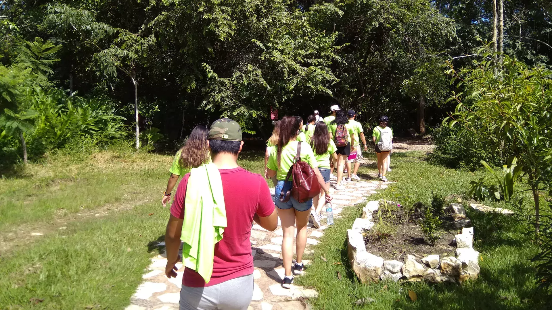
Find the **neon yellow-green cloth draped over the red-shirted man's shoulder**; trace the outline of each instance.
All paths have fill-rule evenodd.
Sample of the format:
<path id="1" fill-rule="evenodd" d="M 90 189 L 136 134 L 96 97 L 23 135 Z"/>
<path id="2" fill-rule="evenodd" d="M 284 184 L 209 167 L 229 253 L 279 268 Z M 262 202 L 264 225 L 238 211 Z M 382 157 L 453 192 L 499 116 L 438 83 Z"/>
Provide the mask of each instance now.
<path id="1" fill-rule="evenodd" d="M 215 244 L 222 240 L 226 224 L 226 207 L 222 181 L 215 164 L 192 169 L 184 204 L 181 239 L 183 263 L 209 283 L 213 274 Z"/>

